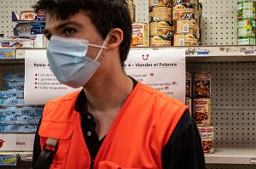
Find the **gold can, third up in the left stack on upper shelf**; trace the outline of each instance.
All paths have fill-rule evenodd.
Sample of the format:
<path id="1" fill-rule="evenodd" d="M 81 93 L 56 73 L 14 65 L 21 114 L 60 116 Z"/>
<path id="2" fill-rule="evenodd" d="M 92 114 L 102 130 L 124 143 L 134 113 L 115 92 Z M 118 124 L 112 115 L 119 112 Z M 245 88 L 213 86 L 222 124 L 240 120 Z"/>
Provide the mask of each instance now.
<path id="1" fill-rule="evenodd" d="M 171 7 L 149 8 L 149 20 L 151 21 L 172 21 Z"/>

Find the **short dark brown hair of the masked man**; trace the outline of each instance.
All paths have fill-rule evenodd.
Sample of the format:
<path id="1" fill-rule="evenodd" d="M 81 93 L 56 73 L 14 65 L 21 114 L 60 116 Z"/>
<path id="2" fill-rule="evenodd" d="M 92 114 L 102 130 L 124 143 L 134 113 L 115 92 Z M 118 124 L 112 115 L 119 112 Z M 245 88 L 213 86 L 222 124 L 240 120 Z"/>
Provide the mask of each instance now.
<path id="1" fill-rule="evenodd" d="M 131 16 L 127 0 L 39 0 L 34 5 L 36 11 L 45 10 L 57 19 L 67 20 L 73 14 L 84 11 L 96 29 L 106 38 L 112 28 L 124 32 L 124 40 L 119 47 L 121 65 L 131 46 Z"/>

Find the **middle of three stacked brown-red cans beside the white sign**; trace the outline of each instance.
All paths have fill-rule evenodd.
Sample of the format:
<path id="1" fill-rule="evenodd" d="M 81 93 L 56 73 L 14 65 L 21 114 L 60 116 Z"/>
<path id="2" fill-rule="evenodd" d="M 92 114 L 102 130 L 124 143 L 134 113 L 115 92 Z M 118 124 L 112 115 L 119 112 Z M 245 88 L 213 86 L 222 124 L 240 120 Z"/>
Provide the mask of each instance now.
<path id="1" fill-rule="evenodd" d="M 193 99 L 193 118 L 196 124 L 211 124 L 211 99 L 195 98 Z"/>

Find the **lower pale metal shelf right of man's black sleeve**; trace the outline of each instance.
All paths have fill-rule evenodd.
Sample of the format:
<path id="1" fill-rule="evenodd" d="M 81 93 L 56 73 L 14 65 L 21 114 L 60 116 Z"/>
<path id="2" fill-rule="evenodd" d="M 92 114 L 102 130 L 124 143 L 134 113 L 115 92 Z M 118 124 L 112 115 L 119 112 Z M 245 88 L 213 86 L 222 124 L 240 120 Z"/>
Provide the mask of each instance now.
<path id="1" fill-rule="evenodd" d="M 215 149 L 214 154 L 205 155 L 207 164 L 254 164 L 256 165 L 256 149 L 222 148 Z"/>

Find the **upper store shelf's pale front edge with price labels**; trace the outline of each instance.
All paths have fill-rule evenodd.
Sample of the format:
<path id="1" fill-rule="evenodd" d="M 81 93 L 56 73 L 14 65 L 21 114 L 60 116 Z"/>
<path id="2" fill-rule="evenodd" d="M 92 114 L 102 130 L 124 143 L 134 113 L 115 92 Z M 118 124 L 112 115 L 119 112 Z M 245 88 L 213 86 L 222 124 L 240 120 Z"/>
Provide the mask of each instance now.
<path id="1" fill-rule="evenodd" d="M 256 61 L 256 46 L 198 46 L 198 47 L 167 47 L 185 49 L 186 59 L 189 62 L 209 61 Z M 16 48 L 15 59 L 24 59 L 26 50 L 42 48 Z M 45 49 L 45 48 L 44 48 Z M 152 48 L 131 48 L 131 50 Z M 163 48 L 153 48 L 160 50 Z"/>

